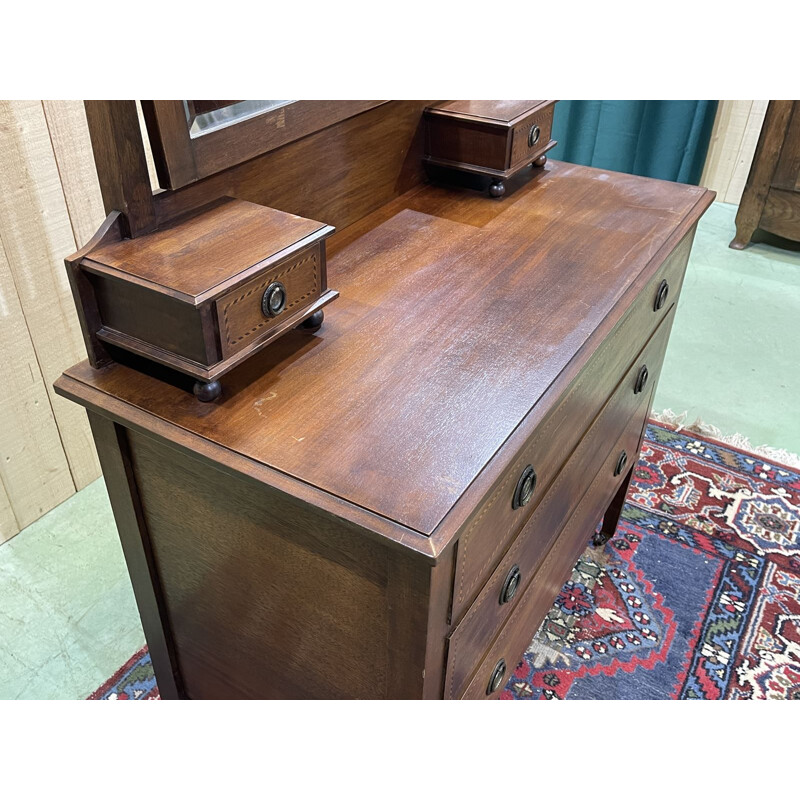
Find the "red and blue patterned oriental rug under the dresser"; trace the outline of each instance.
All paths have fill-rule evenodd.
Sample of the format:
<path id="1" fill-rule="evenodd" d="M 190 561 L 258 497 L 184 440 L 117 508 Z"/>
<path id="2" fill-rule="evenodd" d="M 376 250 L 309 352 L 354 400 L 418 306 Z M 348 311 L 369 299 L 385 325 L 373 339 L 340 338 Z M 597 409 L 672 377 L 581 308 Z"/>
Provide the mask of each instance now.
<path id="1" fill-rule="evenodd" d="M 157 697 L 144 649 L 89 699 Z M 616 535 L 501 697 L 800 699 L 800 473 L 650 424 Z"/>

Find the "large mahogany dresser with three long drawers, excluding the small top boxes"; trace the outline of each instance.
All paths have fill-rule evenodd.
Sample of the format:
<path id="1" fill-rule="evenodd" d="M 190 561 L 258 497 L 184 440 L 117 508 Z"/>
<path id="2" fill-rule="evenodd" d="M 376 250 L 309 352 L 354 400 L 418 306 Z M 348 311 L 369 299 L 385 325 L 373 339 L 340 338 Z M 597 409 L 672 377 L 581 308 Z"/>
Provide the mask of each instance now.
<path id="1" fill-rule="evenodd" d="M 497 201 L 426 185 L 424 105 L 204 189 L 281 208 L 282 170 L 353 174 L 285 204 L 338 228 L 321 331 L 214 403 L 141 365 L 56 384 L 89 412 L 164 697 L 497 697 L 614 532 L 713 193 L 558 162 Z"/>

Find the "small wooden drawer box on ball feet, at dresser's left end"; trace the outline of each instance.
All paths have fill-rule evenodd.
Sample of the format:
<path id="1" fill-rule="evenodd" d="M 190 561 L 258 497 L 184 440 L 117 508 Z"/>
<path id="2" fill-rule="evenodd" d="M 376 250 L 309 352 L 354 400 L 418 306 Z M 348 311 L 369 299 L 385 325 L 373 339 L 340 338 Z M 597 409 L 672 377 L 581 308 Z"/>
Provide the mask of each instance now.
<path id="1" fill-rule="evenodd" d="M 222 198 L 134 239 L 111 229 L 68 268 L 92 339 L 192 376 L 208 401 L 222 375 L 287 330 L 320 328 L 337 296 L 325 268 L 332 232 Z"/>

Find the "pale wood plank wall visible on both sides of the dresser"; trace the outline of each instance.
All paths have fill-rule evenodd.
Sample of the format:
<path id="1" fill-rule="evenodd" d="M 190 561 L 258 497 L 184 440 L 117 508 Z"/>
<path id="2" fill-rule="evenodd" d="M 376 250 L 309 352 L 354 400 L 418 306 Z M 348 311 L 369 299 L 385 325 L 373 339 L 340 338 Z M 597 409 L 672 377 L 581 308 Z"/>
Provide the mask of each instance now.
<path id="1" fill-rule="evenodd" d="M 739 202 L 765 110 L 720 103 L 702 179 L 718 200 Z M 0 543 L 100 475 L 52 384 L 86 357 L 63 259 L 104 216 L 82 101 L 0 101 Z"/>

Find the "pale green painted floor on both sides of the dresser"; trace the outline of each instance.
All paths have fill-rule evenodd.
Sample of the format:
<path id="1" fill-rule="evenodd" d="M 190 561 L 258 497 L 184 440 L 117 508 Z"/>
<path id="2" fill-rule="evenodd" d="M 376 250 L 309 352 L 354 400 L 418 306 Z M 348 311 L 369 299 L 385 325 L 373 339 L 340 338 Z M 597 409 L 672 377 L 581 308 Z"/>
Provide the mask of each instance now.
<path id="1" fill-rule="evenodd" d="M 800 453 L 800 253 L 703 217 L 655 410 Z M 102 480 L 0 546 L 0 699 L 90 694 L 144 644 Z"/>

